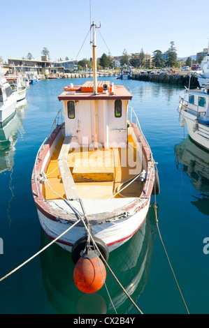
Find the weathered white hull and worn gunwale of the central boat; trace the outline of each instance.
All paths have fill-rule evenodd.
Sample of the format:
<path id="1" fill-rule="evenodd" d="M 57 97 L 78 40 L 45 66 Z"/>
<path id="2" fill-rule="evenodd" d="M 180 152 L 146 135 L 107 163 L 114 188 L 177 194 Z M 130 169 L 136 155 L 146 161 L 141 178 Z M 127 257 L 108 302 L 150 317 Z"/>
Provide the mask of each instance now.
<path id="1" fill-rule="evenodd" d="M 120 198 L 112 200 L 111 205 L 114 207 L 113 209 L 110 209 L 110 204 L 107 202 L 105 211 L 101 209 L 101 206 L 98 206 L 99 210 L 95 211 L 95 207 L 96 201 L 104 203 L 106 200 L 90 200 L 92 202 L 90 206 L 92 205 L 94 208 L 94 214 L 89 214 L 89 211 L 87 211 L 92 235 L 104 241 L 108 246 L 109 252 L 124 244 L 138 231 L 140 226 L 143 225 L 150 207 L 150 197 L 154 185 L 154 161 L 150 147 L 147 147 L 143 134 L 139 131 L 136 124 L 133 124 L 133 128 L 138 137 L 138 142 L 142 145 L 144 165 L 147 168 L 147 179 L 143 192 L 140 197 L 132 197 L 130 200 L 124 201 L 124 199 Z M 41 147 L 31 179 L 32 192 L 41 227 L 52 240 L 68 230 L 80 218 L 70 209 L 71 206 L 74 208 L 78 207 L 79 202 L 69 201 L 71 206 L 68 206 L 64 199 L 57 200 L 56 202 L 59 202 L 59 204 L 56 204 L 54 201 L 45 201 L 42 193 L 43 184 L 37 179 L 37 177 L 41 176 L 41 172 L 45 172 L 55 147 L 57 147 L 59 140 L 62 138 L 63 130 L 62 124 L 57 126 L 50 139 Z M 89 202 L 89 200 L 86 200 L 86 202 Z M 120 203 L 120 206 L 115 206 L 118 203 Z M 86 209 L 85 200 L 83 200 L 83 204 Z M 70 211 L 71 213 L 69 213 Z M 56 243 L 67 251 L 71 251 L 75 241 L 85 237 L 86 234 L 85 224 L 83 221 L 80 221 L 69 232 L 66 232 L 59 238 Z"/>

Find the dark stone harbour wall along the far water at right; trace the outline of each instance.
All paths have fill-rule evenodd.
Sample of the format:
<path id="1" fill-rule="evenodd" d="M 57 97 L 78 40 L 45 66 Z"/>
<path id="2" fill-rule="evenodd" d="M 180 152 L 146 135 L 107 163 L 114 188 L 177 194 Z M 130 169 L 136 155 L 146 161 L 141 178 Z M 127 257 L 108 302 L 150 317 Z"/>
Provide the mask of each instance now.
<path id="1" fill-rule="evenodd" d="M 184 75 L 184 74 L 149 74 L 149 73 L 132 73 L 131 80 L 139 80 L 139 81 L 148 81 L 148 82 L 160 82 L 160 83 L 168 83 L 168 84 L 179 84 L 185 87 L 189 87 L 189 79 L 190 79 L 190 87 L 199 87 L 199 82 L 196 75 Z"/>

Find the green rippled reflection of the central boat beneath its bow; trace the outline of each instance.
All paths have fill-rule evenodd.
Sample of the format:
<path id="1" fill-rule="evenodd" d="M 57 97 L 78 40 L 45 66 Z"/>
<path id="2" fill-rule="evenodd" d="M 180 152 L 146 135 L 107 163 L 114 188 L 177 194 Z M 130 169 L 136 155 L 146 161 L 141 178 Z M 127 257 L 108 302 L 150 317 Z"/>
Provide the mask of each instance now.
<path id="1" fill-rule="evenodd" d="M 153 227 L 154 209 L 150 207 L 140 230 L 125 245 L 110 253 L 108 260 L 113 273 L 134 302 L 143 292 L 150 273 L 153 242 L 156 235 Z M 49 242 L 50 239 L 41 230 L 40 248 L 42 249 Z M 106 268 L 106 286 L 103 285 L 101 290 L 94 294 L 85 294 L 76 288 L 73 281 L 75 265 L 69 252 L 52 244 L 40 256 L 45 291 L 57 313 L 114 314 L 116 310 L 118 314 L 125 314 L 129 313 L 134 306 L 108 268 Z"/>

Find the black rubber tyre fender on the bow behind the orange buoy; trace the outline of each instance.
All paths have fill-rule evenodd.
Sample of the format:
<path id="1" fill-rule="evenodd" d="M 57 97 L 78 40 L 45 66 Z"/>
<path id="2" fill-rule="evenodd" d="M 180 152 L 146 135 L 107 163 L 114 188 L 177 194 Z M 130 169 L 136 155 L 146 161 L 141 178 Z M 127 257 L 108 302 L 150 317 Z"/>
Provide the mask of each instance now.
<path id="1" fill-rule="evenodd" d="M 93 238 L 96 243 L 96 246 L 99 248 L 99 251 L 101 252 L 101 255 L 103 255 L 103 258 L 105 261 L 103 260 L 103 258 L 101 258 L 101 260 L 104 263 L 108 262 L 108 258 L 109 258 L 108 246 L 106 245 L 106 243 L 103 240 L 101 240 L 97 237 L 93 237 Z M 73 248 L 71 251 L 72 260 L 75 264 L 80 259 L 81 251 L 85 250 L 86 243 L 87 243 L 87 237 L 82 237 L 82 238 L 78 239 L 77 241 L 75 241 L 75 244 L 73 245 Z M 94 247 L 92 239 L 90 240 L 90 246 L 92 246 L 92 248 Z"/>

